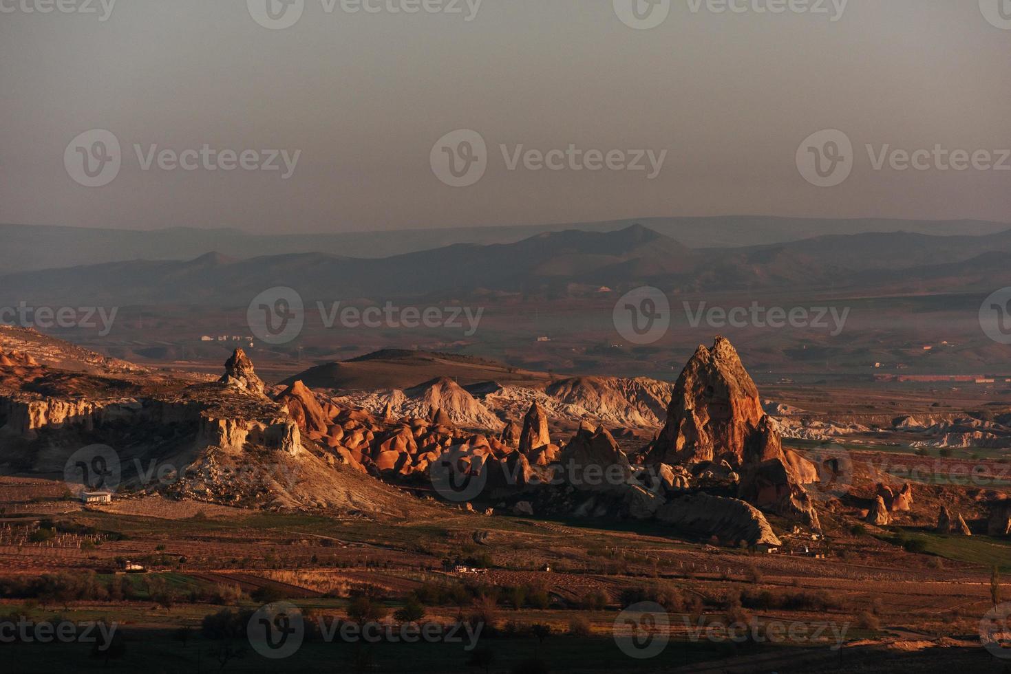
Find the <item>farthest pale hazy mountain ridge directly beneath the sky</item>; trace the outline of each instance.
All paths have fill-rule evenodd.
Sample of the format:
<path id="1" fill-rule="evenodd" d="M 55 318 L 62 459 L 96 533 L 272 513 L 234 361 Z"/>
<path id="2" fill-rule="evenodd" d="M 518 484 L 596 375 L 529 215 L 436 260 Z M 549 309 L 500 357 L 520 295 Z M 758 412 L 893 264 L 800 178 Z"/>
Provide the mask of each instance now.
<path id="1" fill-rule="evenodd" d="M 827 234 L 907 231 L 933 235 L 996 233 L 1011 224 L 979 220 L 819 219 L 766 216 L 665 217 L 569 224 L 428 228 L 402 231 L 251 234 L 239 229 L 173 227 L 153 231 L 0 224 L 9 273 L 124 260 L 193 260 L 209 251 L 237 259 L 299 253 L 388 258 L 454 244 L 515 244 L 567 229 L 616 231 L 641 224 L 693 248 L 783 244 Z M 278 227 L 283 229 L 283 226 Z"/>

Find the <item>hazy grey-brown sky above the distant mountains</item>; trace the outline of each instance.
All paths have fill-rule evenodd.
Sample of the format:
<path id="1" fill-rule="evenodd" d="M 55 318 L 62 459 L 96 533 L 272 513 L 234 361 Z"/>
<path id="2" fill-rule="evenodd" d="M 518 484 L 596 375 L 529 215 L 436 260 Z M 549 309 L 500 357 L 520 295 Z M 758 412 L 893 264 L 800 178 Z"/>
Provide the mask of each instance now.
<path id="1" fill-rule="evenodd" d="M 246 0 L 118 0 L 105 21 L 101 0 L 50 1 L 98 12 L 0 0 L 0 222 L 278 232 L 734 213 L 1011 221 L 1011 170 L 942 171 L 923 155 L 927 170 L 890 159 L 876 170 L 865 149 L 1011 149 L 1008 0 L 993 0 L 992 20 L 988 0 L 849 0 L 835 21 L 840 0 L 804 3 L 827 14 L 756 11 L 787 0 L 736 0 L 741 13 L 670 0 L 646 30 L 612 0 L 483 0 L 469 21 L 476 0 L 459 0 L 461 13 L 304 0 L 284 29 L 254 19 L 256 0 L 254 11 Z M 102 187 L 75 182 L 65 162 L 90 129 L 121 146 Z M 433 170 L 434 146 L 455 129 L 486 142 L 486 172 L 468 187 Z M 802 141 L 821 129 L 854 149 L 834 187 L 798 170 Z M 91 152 L 94 137 L 78 147 Z M 157 159 L 143 170 L 134 149 L 205 143 L 300 155 L 285 180 L 280 159 L 281 171 Z M 650 180 L 646 158 L 646 171 L 574 171 L 568 159 L 510 170 L 500 145 L 666 155 Z M 1002 153 L 991 161 L 1011 169 Z"/>

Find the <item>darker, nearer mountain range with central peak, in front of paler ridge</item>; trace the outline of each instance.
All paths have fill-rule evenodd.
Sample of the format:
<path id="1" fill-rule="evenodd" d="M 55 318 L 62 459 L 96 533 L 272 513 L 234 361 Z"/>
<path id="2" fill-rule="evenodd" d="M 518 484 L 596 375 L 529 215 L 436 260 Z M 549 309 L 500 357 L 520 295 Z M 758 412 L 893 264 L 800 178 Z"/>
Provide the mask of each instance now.
<path id="1" fill-rule="evenodd" d="M 961 292 L 1011 285 L 1011 230 L 936 236 L 830 235 L 743 248 L 691 249 L 641 224 L 567 230 L 514 243 L 456 244 L 382 259 L 324 253 L 238 260 L 130 261 L 0 277 L 0 302 L 242 306 L 274 286 L 306 301 L 460 297 L 494 293 L 564 297 L 600 286 L 665 291 Z"/>

